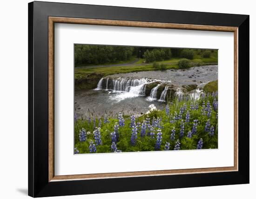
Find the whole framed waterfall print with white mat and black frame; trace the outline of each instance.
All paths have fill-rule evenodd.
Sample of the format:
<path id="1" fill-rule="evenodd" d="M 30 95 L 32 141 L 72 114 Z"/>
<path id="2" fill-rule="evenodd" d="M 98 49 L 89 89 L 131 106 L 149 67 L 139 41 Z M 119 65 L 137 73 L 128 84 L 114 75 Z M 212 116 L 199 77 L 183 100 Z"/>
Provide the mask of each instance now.
<path id="1" fill-rule="evenodd" d="M 30 196 L 249 183 L 248 15 L 35 1 L 28 24 Z"/>

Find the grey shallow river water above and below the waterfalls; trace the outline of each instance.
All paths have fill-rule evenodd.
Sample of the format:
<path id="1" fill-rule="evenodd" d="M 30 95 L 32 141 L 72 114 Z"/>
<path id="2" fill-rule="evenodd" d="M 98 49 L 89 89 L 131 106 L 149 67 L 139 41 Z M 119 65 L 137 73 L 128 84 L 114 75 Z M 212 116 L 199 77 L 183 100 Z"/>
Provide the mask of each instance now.
<path id="1" fill-rule="evenodd" d="M 182 86 L 189 84 L 197 84 L 199 87 L 202 87 L 209 81 L 214 81 L 218 79 L 218 67 L 217 65 L 213 66 L 200 66 L 192 67 L 188 70 L 166 70 L 166 71 L 143 71 L 136 73 L 121 73 L 109 75 L 111 78 L 120 78 L 115 81 L 113 80 L 113 88 L 120 86 L 120 81 L 127 78 L 147 78 L 151 81 L 162 80 L 165 82 L 171 82 L 171 84 Z M 144 80 L 141 81 L 143 84 Z M 141 84 L 142 84 L 141 83 Z M 114 86 L 115 84 L 115 86 Z M 126 84 L 128 84 L 126 82 Z M 154 100 L 154 93 L 151 97 L 141 96 L 141 92 L 137 92 L 138 89 L 141 89 L 142 85 L 136 83 L 131 86 L 129 84 L 129 89 L 126 87 L 108 90 L 108 85 L 106 87 L 99 88 L 102 89 L 93 89 L 89 91 L 79 90 L 75 91 L 74 96 L 74 107 L 75 112 L 78 116 L 88 116 L 92 113 L 94 116 L 98 117 L 105 113 L 108 115 L 116 115 L 119 112 L 123 112 L 126 115 L 131 114 L 143 114 L 148 111 L 148 106 L 154 104 L 158 109 L 163 107 L 163 102 L 160 100 Z M 153 89 L 152 89 L 153 90 Z M 164 94 L 164 93 L 163 93 Z"/>

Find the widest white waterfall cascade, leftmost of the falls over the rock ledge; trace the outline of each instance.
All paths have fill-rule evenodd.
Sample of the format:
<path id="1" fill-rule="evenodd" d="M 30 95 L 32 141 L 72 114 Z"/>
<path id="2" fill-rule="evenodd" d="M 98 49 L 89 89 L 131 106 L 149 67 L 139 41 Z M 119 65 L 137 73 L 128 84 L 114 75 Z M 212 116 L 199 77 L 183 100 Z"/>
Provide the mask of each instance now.
<path id="1" fill-rule="evenodd" d="M 134 93 L 137 95 L 145 95 L 146 94 L 146 84 L 152 82 L 148 78 L 118 78 L 118 79 L 110 79 L 110 78 L 101 78 L 98 82 L 96 90 L 106 89 L 112 90 L 113 92 L 128 92 Z"/>

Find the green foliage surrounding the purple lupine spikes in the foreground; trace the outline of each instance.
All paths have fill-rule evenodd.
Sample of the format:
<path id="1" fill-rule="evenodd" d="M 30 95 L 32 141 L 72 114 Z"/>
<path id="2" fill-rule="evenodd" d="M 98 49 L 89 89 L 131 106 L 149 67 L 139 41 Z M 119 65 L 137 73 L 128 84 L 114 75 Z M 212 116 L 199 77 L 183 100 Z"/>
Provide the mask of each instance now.
<path id="1" fill-rule="evenodd" d="M 215 111 L 212 109 L 211 115 L 207 115 L 207 111 L 205 111 L 205 106 L 207 102 L 209 101 L 209 104 L 213 104 L 213 99 L 211 95 L 209 97 L 206 97 L 205 99 L 199 99 L 198 101 L 193 100 L 182 100 L 179 101 L 178 99 L 175 99 L 172 103 L 168 103 L 169 106 L 169 114 L 166 113 L 166 110 L 155 110 L 150 112 L 149 114 L 144 114 L 141 117 L 136 118 L 136 122 L 142 123 L 147 118 L 150 119 L 150 124 L 152 124 L 152 120 L 156 118 L 161 118 L 162 122 L 161 124 L 161 132 L 162 132 L 162 143 L 160 150 L 164 150 L 166 142 L 170 143 L 170 150 L 174 150 L 175 142 L 177 139 L 179 139 L 181 145 L 181 149 L 183 150 L 189 150 L 189 149 L 196 149 L 197 143 L 199 139 L 203 139 L 203 149 L 209 149 L 209 148 L 218 148 L 218 120 L 216 117 L 217 110 Z M 216 97 L 217 99 L 217 97 Z M 204 102 L 205 101 L 205 102 Z M 193 104 L 194 107 L 198 103 L 198 109 L 190 109 L 190 105 Z M 205 106 L 203 105 L 205 103 Z M 187 111 L 185 110 L 182 114 L 182 119 L 184 121 L 184 135 L 183 137 L 180 137 L 180 131 L 181 131 L 181 123 L 182 119 L 174 119 L 175 112 L 179 114 L 179 111 L 181 107 L 185 107 L 186 110 L 189 111 L 190 119 L 188 122 L 185 121 Z M 97 146 L 97 153 L 110 153 L 111 151 L 111 135 L 110 133 L 114 131 L 114 126 L 118 124 L 118 116 L 109 116 L 108 123 L 104 123 L 103 115 L 100 116 L 100 118 L 95 119 L 95 126 L 93 122 L 93 113 L 91 113 L 91 121 L 88 121 L 88 118 L 86 119 L 78 119 L 75 122 L 75 147 L 79 150 L 80 153 L 89 153 L 89 143 L 90 141 L 94 141 L 94 130 L 95 126 L 99 126 L 99 122 L 101 121 L 101 141 L 102 145 Z M 108 113 L 107 113 L 108 114 Z M 124 116 L 125 119 L 125 126 L 119 126 L 119 139 L 116 143 L 116 146 L 118 150 L 121 150 L 122 152 L 138 152 L 138 151 L 155 151 L 155 144 L 156 144 L 156 133 L 159 129 L 158 127 L 154 127 L 154 133 L 155 136 L 150 137 L 148 133 L 150 132 L 149 129 L 146 130 L 146 135 L 141 136 L 141 126 L 138 126 L 138 134 L 137 139 L 135 142 L 135 145 L 131 145 L 131 134 L 132 134 L 132 128 L 130 127 L 131 119 L 130 116 L 126 115 Z M 194 125 L 194 119 L 197 119 L 197 131 L 195 134 L 193 134 L 192 138 L 188 138 L 188 132 L 192 130 L 192 127 Z M 214 135 L 210 136 L 209 133 L 205 130 L 206 122 L 210 122 L 210 126 L 214 127 Z M 173 120 L 170 122 L 170 120 Z M 79 141 L 79 133 L 81 129 L 84 128 L 86 132 L 90 132 L 87 134 L 87 140 L 86 141 Z M 175 129 L 175 139 L 172 140 L 171 133 L 173 128 Z"/>

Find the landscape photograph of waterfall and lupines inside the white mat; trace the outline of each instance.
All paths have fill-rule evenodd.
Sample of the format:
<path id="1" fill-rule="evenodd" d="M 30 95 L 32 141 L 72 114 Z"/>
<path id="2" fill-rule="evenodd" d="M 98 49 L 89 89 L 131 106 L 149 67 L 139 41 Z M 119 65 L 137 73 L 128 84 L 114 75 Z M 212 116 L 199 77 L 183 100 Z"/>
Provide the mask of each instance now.
<path id="1" fill-rule="evenodd" d="M 74 154 L 217 148 L 217 49 L 74 44 Z"/>

